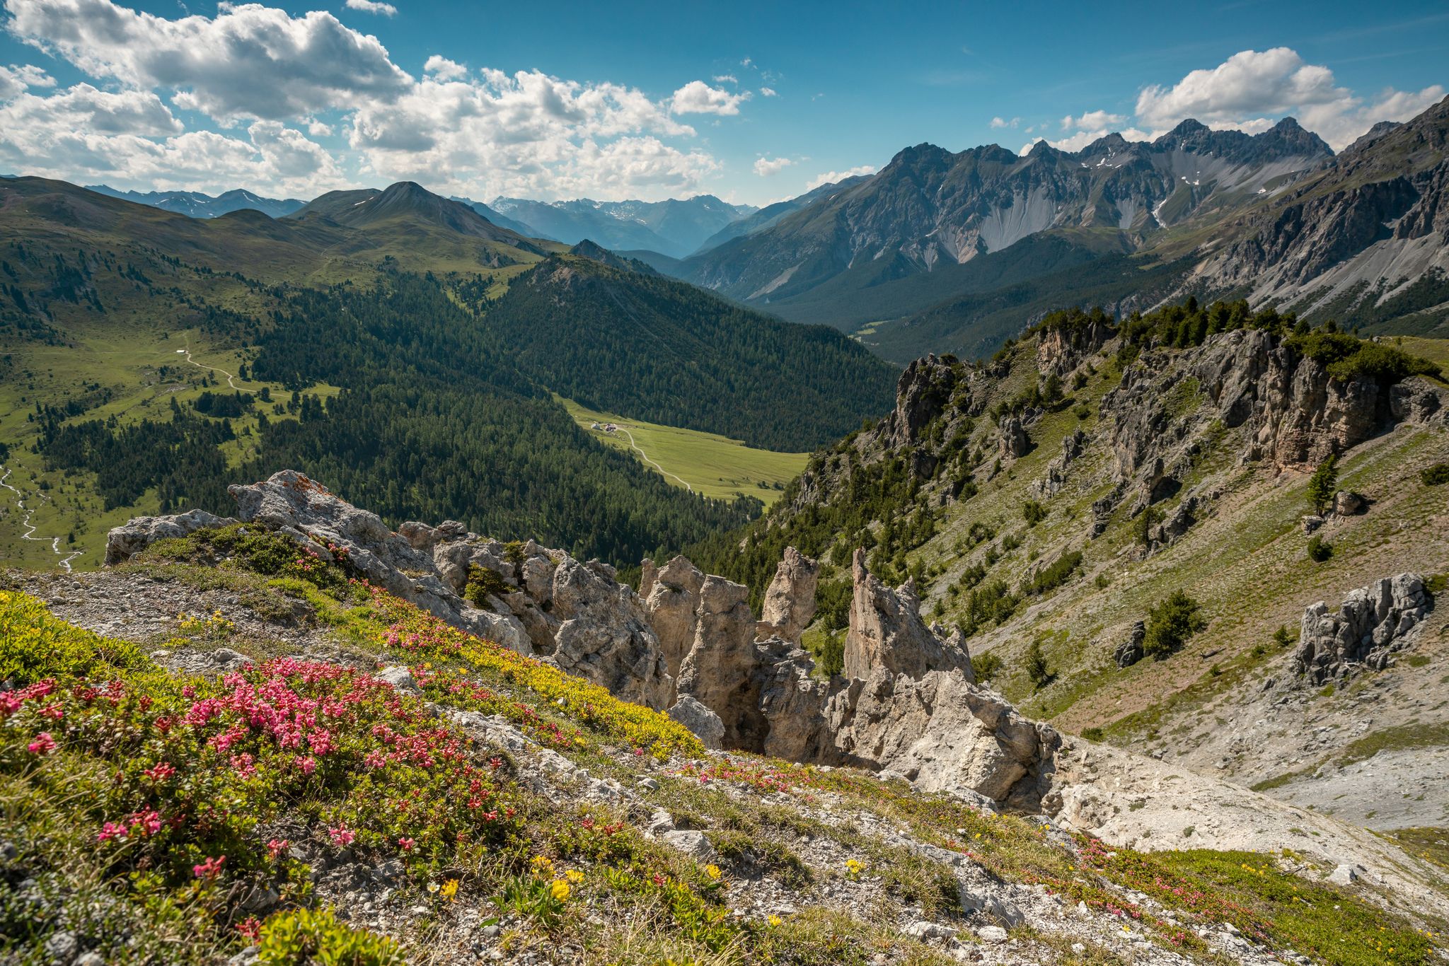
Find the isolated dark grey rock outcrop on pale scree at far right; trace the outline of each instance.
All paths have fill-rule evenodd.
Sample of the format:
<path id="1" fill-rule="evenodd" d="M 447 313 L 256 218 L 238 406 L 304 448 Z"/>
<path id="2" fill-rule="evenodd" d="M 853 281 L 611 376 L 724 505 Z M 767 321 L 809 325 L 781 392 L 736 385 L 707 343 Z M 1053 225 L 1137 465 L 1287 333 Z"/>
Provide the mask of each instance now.
<path id="1" fill-rule="evenodd" d="M 1382 671 L 1390 655 L 1408 646 L 1435 601 L 1417 574 L 1385 576 L 1349 591 L 1337 611 L 1323 601 L 1303 611 L 1294 673 L 1311 684 L 1345 678 L 1353 665 Z"/>

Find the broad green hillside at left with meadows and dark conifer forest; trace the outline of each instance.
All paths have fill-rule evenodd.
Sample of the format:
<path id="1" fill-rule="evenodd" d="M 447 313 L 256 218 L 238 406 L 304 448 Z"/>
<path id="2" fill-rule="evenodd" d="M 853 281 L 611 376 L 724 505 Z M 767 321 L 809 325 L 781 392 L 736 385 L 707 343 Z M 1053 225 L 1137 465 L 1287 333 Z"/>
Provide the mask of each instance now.
<path id="1" fill-rule="evenodd" d="M 270 461 L 345 482 L 394 523 L 454 517 L 616 562 L 743 523 L 758 503 L 703 501 L 590 439 L 551 397 L 555 372 L 525 362 L 488 320 L 509 281 L 559 248 L 409 184 L 283 220 L 199 220 L 62 182 L 0 182 L 7 555 L 94 566 L 116 518 L 217 505 L 226 484 L 265 475 Z M 830 403 L 813 423 L 775 424 L 809 449 L 888 407 L 890 371 L 843 337 L 829 333 L 830 371 L 806 350 L 820 333 L 659 284 L 678 290 L 675 307 L 706 300 L 735 358 L 706 353 L 690 381 L 629 355 L 668 356 L 667 343 L 614 346 L 659 411 L 640 419 L 720 394 L 749 410 L 767 398 L 755 384 L 769 384 L 777 410 L 787 388 Z M 577 311 L 591 311 L 587 300 Z M 751 355 L 751 333 L 768 353 Z M 691 339 L 675 352 L 701 350 L 685 329 L 668 336 Z M 811 368 L 791 375 L 796 362 Z M 874 392 L 846 400 L 833 388 L 840 366 Z"/>

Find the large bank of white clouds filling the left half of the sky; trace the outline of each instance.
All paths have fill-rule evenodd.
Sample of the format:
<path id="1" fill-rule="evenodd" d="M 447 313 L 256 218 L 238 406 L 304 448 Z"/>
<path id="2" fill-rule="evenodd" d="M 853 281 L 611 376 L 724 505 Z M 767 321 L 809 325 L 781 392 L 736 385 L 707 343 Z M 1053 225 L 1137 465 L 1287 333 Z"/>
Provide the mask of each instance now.
<path id="1" fill-rule="evenodd" d="M 678 143 L 697 138 L 681 116 L 738 114 L 751 97 L 691 81 L 653 100 L 442 55 L 413 77 L 325 12 L 222 3 L 212 17 L 167 19 L 114 0 L 3 3 L 14 36 L 94 84 L 42 96 L 33 88 L 54 87 L 43 71 L 0 68 L 0 169 L 120 187 L 310 196 L 407 178 L 472 197 L 655 200 L 698 193 L 720 171 Z M 174 109 L 213 129 L 185 130 Z M 332 136 L 342 146 L 314 140 Z"/>

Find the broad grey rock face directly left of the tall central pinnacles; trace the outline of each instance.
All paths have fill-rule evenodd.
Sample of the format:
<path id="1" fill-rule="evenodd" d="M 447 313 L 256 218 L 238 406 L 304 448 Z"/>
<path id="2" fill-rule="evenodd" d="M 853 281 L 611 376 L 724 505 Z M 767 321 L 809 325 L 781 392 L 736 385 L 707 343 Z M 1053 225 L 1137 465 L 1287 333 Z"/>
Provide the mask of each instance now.
<path id="1" fill-rule="evenodd" d="M 561 621 L 554 643 L 559 668 L 625 701 L 669 704 L 674 681 L 659 639 L 639 597 L 614 579 L 613 568 L 567 558 L 554 572 L 552 604 Z"/>

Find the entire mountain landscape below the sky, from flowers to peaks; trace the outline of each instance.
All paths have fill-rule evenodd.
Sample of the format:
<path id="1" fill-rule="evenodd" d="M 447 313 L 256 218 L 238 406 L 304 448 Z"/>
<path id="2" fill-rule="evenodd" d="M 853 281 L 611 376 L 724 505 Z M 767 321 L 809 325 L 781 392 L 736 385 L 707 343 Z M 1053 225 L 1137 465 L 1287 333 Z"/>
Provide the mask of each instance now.
<path id="1" fill-rule="evenodd" d="M 1449 960 L 1449 100 L 1262 127 L 0 180 L 0 963 Z"/>

